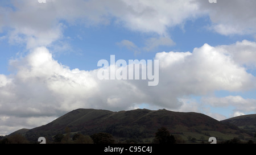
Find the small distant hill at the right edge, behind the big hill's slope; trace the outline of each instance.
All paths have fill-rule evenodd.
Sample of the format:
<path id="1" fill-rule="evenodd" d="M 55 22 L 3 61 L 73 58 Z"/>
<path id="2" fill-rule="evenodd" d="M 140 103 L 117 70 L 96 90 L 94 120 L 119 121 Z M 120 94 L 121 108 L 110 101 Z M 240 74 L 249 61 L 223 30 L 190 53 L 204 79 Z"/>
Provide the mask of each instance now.
<path id="1" fill-rule="evenodd" d="M 256 114 L 237 116 L 234 118 L 222 120 L 221 122 L 236 125 L 237 127 L 250 132 L 251 135 L 256 133 Z"/>

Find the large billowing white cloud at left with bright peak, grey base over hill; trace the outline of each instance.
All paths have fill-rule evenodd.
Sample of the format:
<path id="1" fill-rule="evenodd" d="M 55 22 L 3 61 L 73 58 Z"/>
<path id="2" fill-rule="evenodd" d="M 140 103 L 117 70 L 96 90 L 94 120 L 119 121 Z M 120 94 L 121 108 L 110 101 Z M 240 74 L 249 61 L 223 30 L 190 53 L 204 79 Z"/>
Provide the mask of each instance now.
<path id="1" fill-rule="evenodd" d="M 137 93 L 134 102 L 143 96 L 127 81 L 100 81 L 97 70 L 71 70 L 54 60 L 45 47 L 36 48 L 19 60 L 11 60 L 10 65 L 16 68 L 16 74 L 9 78 L 1 76 L 1 114 L 13 111 L 13 115 L 18 116 L 46 116 L 79 107 L 120 110 L 131 106 L 133 101 L 127 100 L 134 93 Z M 110 87 L 116 89 L 110 90 Z M 130 95 L 126 91 L 130 91 Z"/>

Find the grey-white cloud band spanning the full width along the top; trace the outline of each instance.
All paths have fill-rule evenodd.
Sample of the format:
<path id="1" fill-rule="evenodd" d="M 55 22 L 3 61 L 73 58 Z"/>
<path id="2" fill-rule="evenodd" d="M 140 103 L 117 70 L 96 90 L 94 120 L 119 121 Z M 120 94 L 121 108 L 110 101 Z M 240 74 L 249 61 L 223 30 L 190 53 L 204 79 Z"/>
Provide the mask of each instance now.
<path id="1" fill-rule="evenodd" d="M 20 0 L 0 7 L 0 30 L 7 28 L 12 44 L 26 44 L 27 49 L 49 46 L 64 39 L 65 27 L 83 24 L 85 27 L 115 24 L 131 31 L 154 33 L 148 47 L 174 45 L 168 29 L 208 15 L 209 29 L 222 35 L 255 33 L 255 1 L 200 0 L 179 1 L 56 1 L 47 3 Z M 152 42 L 154 41 L 154 42 Z M 151 44 L 154 43 L 154 44 Z"/>

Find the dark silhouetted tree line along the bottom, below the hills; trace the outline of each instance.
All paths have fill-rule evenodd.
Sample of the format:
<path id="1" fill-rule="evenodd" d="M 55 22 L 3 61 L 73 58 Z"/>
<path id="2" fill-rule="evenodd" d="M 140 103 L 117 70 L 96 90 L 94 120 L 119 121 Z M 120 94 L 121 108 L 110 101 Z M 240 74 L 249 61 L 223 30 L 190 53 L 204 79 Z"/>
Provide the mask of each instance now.
<path id="1" fill-rule="evenodd" d="M 256 137 L 256 134 L 255 134 Z M 197 140 L 191 136 L 188 137 L 189 143 L 195 143 Z M 201 139 L 202 143 L 204 139 Z M 39 143 L 31 142 L 26 139 L 25 136 L 20 134 L 14 134 L 10 136 L 0 136 L 0 144 L 30 144 L 30 143 Z M 57 133 L 55 136 L 52 136 L 50 139 L 46 137 L 46 143 L 48 144 L 117 144 L 117 143 L 143 143 L 134 138 L 126 139 L 125 141 L 116 140 L 112 134 L 106 132 L 94 133 L 93 135 L 84 135 L 82 133 L 73 133 L 71 134 L 68 128 L 65 129 L 65 134 Z M 148 141 L 147 143 L 152 144 L 175 144 L 175 143 L 186 143 L 185 140 L 181 139 L 179 136 L 171 135 L 167 128 L 159 128 L 155 132 L 155 137 Z M 240 144 L 244 143 L 238 138 L 232 140 L 223 141 L 222 143 L 226 144 Z M 254 143 L 254 141 L 248 141 L 247 143 Z"/>

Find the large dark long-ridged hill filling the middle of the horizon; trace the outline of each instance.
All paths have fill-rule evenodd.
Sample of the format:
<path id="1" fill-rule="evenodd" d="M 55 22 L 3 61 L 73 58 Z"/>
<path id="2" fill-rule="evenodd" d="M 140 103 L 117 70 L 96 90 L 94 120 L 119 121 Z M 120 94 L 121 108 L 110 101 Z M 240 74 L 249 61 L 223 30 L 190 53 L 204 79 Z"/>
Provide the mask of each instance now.
<path id="1" fill-rule="evenodd" d="M 219 122 L 204 114 L 147 109 L 118 112 L 77 109 L 24 134 L 31 141 L 37 141 L 42 136 L 52 139 L 57 133 L 65 133 L 67 127 L 71 134 L 107 132 L 119 141 L 137 139 L 141 143 L 151 141 L 160 127 L 166 127 L 172 135 L 184 141 L 192 138 L 194 141 L 207 141 L 210 136 L 217 140 L 230 140 L 234 137 L 250 140 L 252 137 L 235 125 Z"/>

